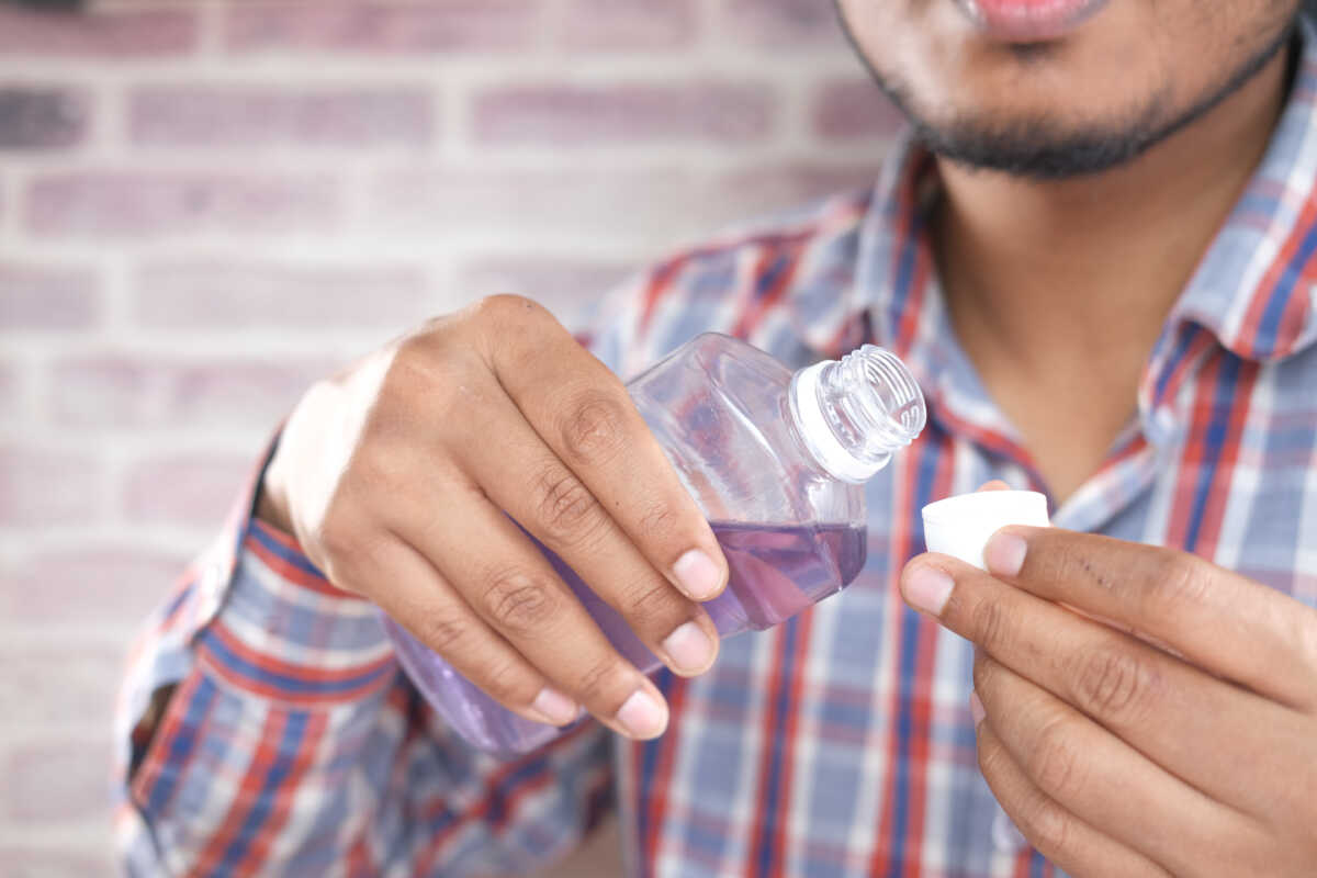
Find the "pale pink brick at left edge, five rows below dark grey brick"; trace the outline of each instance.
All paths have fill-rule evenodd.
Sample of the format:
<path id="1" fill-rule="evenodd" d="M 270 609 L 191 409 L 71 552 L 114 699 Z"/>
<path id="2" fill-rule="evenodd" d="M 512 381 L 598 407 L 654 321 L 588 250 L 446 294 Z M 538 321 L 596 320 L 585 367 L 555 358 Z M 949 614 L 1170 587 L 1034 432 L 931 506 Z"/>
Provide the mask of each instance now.
<path id="1" fill-rule="evenodd" d="M 237 491 L 233 486 L 234 498 Z M 198 542 L 196 550 L 202 548 Z M 136 629 L 173 594 L 187 561 L 178 552 L 82 540 L 63 549 L 0 558 L 5 583 L 0 608 L 12 625 Z"/>

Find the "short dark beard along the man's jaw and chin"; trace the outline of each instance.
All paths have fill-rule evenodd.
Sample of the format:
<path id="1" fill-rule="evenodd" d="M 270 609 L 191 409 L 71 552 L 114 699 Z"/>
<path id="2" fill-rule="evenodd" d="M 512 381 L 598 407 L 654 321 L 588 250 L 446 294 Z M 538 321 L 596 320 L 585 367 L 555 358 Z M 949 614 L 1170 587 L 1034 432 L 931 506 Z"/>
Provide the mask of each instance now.
<path id="1" fill-rule="evenodd" d="M 1293 43 L 1287 75 L 1287 82 L 1292 82 L 1299 58 L 1296 18 L 1262 50 L 1246 58 L 1214 90 L 1200 95 L 1179 112 L 1169 112 L 1167 90 L 1162 90 L 1123 122 L 1064 126 L 1050 117 L 997 120 L 972 111 L 935 122 L 918 112 L 917 101 L 898 78 L 884 75 L 869 62 L 846 16 L 839 12 L 839 17 L 847 39 L 878 88 L 909 120 L 914 137 L 934 154 L 965 167 L 1035 180 L 1100 174 L 1125 165 L 1209 113 L 1263 70 L 1277 53 Z M 1046 47 L 1022 45 L 1014 51 L 1021 63 L 1029 63 L 1034 55 L 1046 51 Z"/>

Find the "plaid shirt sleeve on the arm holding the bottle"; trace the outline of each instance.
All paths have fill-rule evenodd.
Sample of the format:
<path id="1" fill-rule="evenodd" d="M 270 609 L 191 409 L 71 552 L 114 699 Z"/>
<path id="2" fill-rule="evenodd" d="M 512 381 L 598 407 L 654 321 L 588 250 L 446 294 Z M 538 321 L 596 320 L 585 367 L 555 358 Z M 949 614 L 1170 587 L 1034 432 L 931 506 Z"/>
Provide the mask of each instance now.
<path id="1" fill-rule="evenodd" d="M 128 874 L 491 874 L 576 846 L 610 806 L 606 731 L 512 762 L 469 748 L 399 670 L 379 611 L 253 517 L 259 477 L 129 656 Z"/>

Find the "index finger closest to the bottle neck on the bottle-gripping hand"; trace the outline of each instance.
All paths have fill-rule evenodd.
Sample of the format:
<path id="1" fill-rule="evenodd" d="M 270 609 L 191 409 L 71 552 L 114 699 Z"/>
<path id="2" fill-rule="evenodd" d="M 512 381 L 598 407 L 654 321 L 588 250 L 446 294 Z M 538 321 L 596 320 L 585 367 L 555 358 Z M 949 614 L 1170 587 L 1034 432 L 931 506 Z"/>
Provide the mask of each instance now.
<path id="1" fill-rule="evenodd" d="M 727 561 L 626 387 L 535 308 L 511 315 L 533 341 L 494 351 L 499 383 L 656 570 L 694 600 L 715 598 Z"/>

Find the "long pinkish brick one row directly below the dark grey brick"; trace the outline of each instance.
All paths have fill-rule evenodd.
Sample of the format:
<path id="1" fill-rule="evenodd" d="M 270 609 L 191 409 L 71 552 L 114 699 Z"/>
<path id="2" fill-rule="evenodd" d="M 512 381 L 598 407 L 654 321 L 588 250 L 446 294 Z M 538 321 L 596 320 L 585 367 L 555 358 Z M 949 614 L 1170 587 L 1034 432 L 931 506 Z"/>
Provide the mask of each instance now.
<path id="1" fill-rule="evenodd" d="M 26 200 L 32 233 L 94 238 L 324 232 L 338 208 L 331 178 L 296 174 L 54 172 Z"/>

